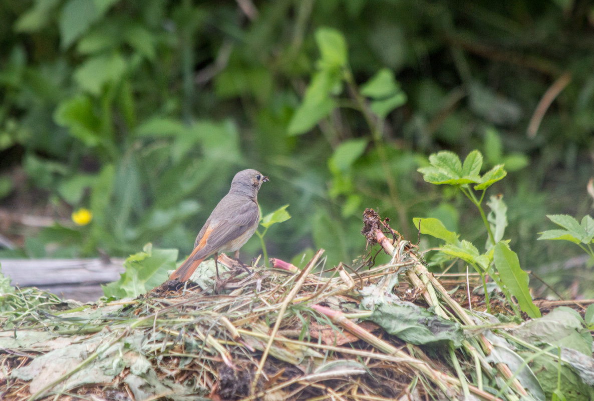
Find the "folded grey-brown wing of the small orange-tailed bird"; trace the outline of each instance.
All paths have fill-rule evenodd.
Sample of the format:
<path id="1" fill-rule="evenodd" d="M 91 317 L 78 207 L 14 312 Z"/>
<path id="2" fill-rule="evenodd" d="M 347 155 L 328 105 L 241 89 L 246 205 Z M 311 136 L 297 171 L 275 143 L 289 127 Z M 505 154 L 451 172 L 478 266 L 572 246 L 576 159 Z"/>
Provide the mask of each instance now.
<path id="1" fill-rule="evenodd" d="M 217 214 L 223 214 L 222 218 L 214 219 L 213 217 Z M 257 224 L 259 218 L 258 205 L 252 200 L 242 199 L 217 205 L 198 234 L 195 247 L 199 247 L 200 250 L 195 253 L 194 258 L 208 257 L 213 254 Z"/>

